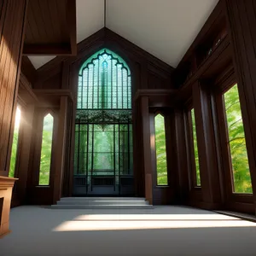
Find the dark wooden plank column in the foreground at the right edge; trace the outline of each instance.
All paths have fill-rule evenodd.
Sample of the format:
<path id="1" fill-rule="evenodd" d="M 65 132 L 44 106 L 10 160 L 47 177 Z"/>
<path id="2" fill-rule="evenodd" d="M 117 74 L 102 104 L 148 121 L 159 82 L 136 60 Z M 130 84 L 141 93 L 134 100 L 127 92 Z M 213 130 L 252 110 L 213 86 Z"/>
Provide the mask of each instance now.
<path id="1" fill-rule="evenodd" d="M 225 0 L 256 204 L 256 3 Z"/>

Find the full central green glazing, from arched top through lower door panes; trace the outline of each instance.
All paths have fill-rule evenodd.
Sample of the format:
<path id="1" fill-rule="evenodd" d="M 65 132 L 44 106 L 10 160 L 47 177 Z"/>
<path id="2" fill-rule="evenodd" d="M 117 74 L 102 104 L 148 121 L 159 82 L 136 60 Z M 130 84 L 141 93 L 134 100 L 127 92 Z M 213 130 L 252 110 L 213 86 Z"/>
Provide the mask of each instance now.
<path id="1" fill-rule="evenodd" d="M 101 49 L 84 62 L 79 76 L 75 172 L 132 173 L 132 137 L 128 137 L 131 118 L 126 110 L 119 110 L 131 108 L 129 67 L 112 51 Z M 86 134 L 81 129 L 83 124 L 89 127 Z"/>

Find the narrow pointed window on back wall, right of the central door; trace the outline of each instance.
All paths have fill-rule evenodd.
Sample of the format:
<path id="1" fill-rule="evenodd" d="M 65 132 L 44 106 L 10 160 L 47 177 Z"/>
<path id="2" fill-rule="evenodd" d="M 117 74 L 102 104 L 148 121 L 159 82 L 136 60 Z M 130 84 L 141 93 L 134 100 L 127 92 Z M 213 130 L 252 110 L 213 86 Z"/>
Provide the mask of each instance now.
<path id="1" fill-rule="evenodd" d="M 158 114 L 154 118 L 157 184 L 168 185 L 166 164 L 165 118 Z"/>

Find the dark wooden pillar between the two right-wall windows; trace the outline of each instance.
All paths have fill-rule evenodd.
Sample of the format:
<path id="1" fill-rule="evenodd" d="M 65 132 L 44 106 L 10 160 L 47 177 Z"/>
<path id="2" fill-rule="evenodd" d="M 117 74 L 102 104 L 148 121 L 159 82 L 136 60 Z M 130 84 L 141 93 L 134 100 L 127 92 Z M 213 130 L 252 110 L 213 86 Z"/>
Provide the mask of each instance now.
<path id="1" fill-rule="evenodd" d="M 201 191 L 204 206 L 218 208 L 221 203 L 218 160 L 213 131 L 211 92 L 199 81 L 193 86 L 196 137 L 198 143 Z"/>

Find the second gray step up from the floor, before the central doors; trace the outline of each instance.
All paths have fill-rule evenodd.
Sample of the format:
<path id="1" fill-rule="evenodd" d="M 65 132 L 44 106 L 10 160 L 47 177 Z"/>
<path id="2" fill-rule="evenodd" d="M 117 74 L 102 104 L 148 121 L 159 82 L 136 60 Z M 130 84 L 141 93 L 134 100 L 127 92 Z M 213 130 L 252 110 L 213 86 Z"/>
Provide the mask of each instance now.
<path id="1" fill-rule="evenodd" d="M 57 201 L 57 205 L 85 205 L 85 206 L 95 206 L 95 205 L 109 205 L 109 206 L 119 206 L 119 205 L 131 205 L 140 206 L 148 205 L 148 201 L 136 201 L 136 200 L 68 200 L 68 201 Z"/>

